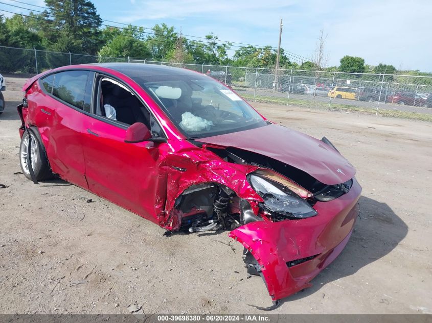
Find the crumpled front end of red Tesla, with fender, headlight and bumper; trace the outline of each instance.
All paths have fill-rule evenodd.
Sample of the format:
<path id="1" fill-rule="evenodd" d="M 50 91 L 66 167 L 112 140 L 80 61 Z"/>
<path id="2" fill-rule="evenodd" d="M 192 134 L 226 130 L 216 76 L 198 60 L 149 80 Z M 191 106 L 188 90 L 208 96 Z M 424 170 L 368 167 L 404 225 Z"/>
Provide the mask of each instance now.
<path id="1" fill-rule="evenodd" d="M 343 183 L 323 183 L 279 160 L 214 144 L 168 154 L 165 164 L 160 225 L 230 230 L 245 248 L 247 271 L 264 279 L 274 301 L 310 286 L 342 252 L 358 215 L 361 187 L 345 173 Z"/>

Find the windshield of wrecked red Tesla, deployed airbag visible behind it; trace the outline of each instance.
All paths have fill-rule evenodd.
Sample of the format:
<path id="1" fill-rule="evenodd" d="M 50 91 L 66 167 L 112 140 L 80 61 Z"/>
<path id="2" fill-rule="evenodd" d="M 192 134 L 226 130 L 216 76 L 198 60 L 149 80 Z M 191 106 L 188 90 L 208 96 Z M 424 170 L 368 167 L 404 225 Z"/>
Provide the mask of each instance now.
<path id="1" fill-rule="evenodd" d="M 175 74 L 135 78 L 190 139 L 266 126 L 267 122 L 230 88 L 207 76 Z"/>

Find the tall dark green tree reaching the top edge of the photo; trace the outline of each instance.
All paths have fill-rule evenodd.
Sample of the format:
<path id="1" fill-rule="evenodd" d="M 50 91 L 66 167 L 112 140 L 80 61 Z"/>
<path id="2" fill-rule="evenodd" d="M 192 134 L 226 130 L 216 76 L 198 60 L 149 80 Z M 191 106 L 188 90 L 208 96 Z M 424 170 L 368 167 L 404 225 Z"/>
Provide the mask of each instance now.
<path id="1" fill-rule="evenodd" d="M 41 23 L 47 47 L 57 52 L 95 55 L 101 45 L 102 19 L 88 0 L 45 0 Z"/>

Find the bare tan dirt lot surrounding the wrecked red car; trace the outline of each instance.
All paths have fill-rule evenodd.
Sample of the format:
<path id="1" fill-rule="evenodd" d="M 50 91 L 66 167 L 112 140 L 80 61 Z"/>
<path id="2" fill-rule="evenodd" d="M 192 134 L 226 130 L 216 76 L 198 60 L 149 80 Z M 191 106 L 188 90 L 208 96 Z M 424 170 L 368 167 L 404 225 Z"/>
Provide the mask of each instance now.
<path id="1" fill-rule="evenodd" d="M 8 78 L 0 116 L 0 313 L 257 313 L 269 306 L 227 232 L 173 235 L 62 181 L 34 185 L 18 162 Z M 361 219 L 344 252 L 276 313 L 432 313 L 432 124 L 255 104 L 327 136 L 357 168 Z M 88 198 L 93 203 L 86 203 Z M 42 252 L 42 253 L 40 253 Z M 237 273 L 238 271 L 239 273 Z M 85 280 L 87 283 L 82 283 Z"/>

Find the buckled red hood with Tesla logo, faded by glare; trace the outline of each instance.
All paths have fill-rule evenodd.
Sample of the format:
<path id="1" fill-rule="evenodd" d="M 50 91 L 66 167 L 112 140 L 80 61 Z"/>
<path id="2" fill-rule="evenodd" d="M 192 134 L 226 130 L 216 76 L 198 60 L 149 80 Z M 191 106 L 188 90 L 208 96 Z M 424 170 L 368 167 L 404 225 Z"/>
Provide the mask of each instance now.
<path id="1" fill-rule="evenodd" d="M 327 185 L 344 183 L 356 172 L 348 160 L 323 141 L 275 124 L 197 141 L 231 146 L 279 160 Z"/>

